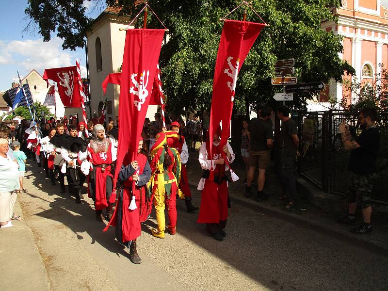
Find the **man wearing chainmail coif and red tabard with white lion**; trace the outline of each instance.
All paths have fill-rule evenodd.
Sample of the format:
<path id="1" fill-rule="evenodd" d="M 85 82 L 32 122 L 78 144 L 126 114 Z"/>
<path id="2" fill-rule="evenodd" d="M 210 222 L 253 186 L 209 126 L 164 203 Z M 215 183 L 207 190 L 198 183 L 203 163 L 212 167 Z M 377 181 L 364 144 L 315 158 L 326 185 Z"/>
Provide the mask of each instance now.
<path id="1" fill-rule="evenodd" d="M 88 196 L 94 201 L 96 218 L 105 221 L 102 210 L 106 208 L 106 219 L 113 214 L 113 203 L 109 198 L 113 191 L 112 166 L 116 160 L 116 152 L 111 141 L 105 137 L 105 129 L 96 124 L 93 129 L 94 139 L 88 145 L 89 162 L 93 164 L 93 175 L 88 177 Z"/>

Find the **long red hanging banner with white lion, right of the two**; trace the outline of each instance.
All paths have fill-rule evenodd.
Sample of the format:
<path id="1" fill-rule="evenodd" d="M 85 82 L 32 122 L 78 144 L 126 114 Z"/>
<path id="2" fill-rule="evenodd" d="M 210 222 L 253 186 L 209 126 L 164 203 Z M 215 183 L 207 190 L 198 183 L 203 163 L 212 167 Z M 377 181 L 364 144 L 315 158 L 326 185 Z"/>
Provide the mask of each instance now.
<path id="1" fill-rule="evenodd" d="M 221 145 L 226 145 L 226 141 L 230 136 L 230 118 L 233 110 L 237 75 L 263 27 L 265 27 L 265 24 L 225 20 L 213 79 L 209 127 L 210 141 L 213 139 L 213 132 L 222 123 Z"/>

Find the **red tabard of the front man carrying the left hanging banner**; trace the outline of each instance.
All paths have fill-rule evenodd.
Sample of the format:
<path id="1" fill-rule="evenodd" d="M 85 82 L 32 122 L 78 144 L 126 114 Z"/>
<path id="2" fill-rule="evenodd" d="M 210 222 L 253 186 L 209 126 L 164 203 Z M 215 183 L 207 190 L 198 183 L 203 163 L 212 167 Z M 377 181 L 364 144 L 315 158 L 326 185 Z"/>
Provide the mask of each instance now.
<path id="1" fill-rule="evenodd" d="M 138 162 L 138 167 L 135 173 L 140 176 L 144 171 L 144 167 L 146 166 L 147 158 L 145 155 L 140 154 L 137 156 L 136 160 Z M 129 165 L 128 154 L 125 156 L 123 164 L 125 166 Z M 140 222 L 143 222 L 146 220 L 148 214 L 151 212 L 151 209 L 152 209 L 151 204 L 149 204 L 149 206 L 144 211 L 142 207 L 142 210 L 141 210 L 142 215 L 140 216 L 140 198 L 144 199 L 144 201 L 146 200 L 146 185 L 142 187 L 135 187 L 135 201 L 136 201 L 137 208 L 135 210 L 128 209 L 129 204 L 132 200 L 131 189 L 132 189 L 132 177 L 129 177 L 129 179 L 124 182 L 124 189 L 123 189 L 123 195 L 122 195 L 123 199 L 122 200 L 119 199 L 119 201 L 117 202 L 117 207 L 113 212 L 112 219 L 109 222 L 108 226 L 104 229 L 106 230 L 109 226 L 117 226 L 118 209 L 121 208 L 123 212 L 122 222 L 121 222 L 123 242 L 132 241 L 140 236 L 140 233 L 141 233 Z M 140 194 L 142 195 L 140 196 Z"/>

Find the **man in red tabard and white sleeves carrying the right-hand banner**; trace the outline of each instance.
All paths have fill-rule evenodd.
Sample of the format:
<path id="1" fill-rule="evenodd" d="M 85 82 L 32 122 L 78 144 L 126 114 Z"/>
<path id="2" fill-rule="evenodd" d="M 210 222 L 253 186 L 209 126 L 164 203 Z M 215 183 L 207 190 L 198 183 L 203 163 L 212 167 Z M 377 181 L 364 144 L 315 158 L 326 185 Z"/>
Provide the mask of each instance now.
<path id="1" fill-rule="evenodd" d="M 210 141 L 208 138 L 199 150 L 199 163 L 205 172 L 198 184 L 198 190 L 202 190 L 201 206 L 197 223 L 205 223 L 206 229 L 210 235 L 217 241 L 224 240 L 226 232 L 226 219 L 228 215 L 228 178 L 225 175 L 225 160 L 222 158 L 222 152 L 226 154 L 229 163 L 233 162 L 235 155 L 228 142 L 226 146 L 220 145 L 221 127 L 215 131 L 212 139 L 210 159 Z M 210 173 L 214 169 L 213 173 Z M 210 175 L 214 174 L 214 178 Z"/>

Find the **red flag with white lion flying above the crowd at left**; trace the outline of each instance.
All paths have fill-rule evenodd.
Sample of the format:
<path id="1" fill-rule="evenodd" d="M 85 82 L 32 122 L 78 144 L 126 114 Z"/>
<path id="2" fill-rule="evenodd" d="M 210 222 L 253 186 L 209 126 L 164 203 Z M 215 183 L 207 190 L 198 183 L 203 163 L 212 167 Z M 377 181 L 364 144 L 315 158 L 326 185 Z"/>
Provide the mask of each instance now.
<path id="1" fill-rule="evenodd" d="M 65 107 L 81 107 L 77 66 L 46 69 L 43 79 L 57 83 L 59 97 Z"/>

